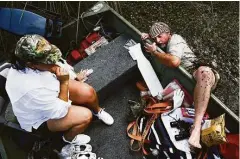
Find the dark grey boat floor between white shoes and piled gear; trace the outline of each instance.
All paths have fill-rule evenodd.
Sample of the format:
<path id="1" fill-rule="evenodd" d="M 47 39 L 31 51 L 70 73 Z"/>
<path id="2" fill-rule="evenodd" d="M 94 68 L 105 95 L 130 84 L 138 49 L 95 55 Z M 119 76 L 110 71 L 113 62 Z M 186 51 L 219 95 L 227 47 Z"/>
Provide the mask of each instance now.
<path id="1" fill-rule="evenodd" d="M 101 121 L 95 120 L 85 132 L 91 136 L 90 144 L 97 156 L 104 159 L 142 158 L 140 153 L 130 150 L 130 138 L 126 133 L 129 99 L 139 100 L 139 91 L 135 87 L 135 82 L 125 84 L 124 87 L 109 96 L 106 101 L 100 103 L 113 116 L 115 123 L 112 126 L 107 126 Z"/>

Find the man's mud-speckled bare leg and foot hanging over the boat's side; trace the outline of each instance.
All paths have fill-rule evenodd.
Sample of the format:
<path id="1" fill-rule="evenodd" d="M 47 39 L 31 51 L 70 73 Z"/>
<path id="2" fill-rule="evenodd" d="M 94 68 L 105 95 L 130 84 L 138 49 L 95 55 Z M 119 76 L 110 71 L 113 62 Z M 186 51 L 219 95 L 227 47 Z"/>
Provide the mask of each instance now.
<path id="1" fill-rule="evenodd" d="M 209 67 L 202 66 L 194 72 L 194 77 L 197 81 L 194 89 L 195 119 L 188 142 L 192 147 L 201 148 L 201 122 L 208 106 L 211 88 L 215 82 L 215 76 Z"/>

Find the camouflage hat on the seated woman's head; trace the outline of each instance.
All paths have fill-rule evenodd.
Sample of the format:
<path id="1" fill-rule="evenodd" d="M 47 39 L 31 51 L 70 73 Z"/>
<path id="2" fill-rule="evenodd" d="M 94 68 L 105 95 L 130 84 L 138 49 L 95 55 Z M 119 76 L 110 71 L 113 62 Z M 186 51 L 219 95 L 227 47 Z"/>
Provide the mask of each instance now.
<path id="1" fill-rule="evenodd" d="M 25 62 L 55 64 L 62 53 L 40 35 L 25 35 L 18 42 L 15 55 Z"/>

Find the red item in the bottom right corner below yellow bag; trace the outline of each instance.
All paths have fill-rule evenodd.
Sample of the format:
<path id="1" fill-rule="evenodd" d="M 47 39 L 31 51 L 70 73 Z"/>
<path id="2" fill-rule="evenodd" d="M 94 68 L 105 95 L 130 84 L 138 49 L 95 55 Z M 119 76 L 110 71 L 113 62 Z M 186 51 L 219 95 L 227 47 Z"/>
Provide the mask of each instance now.
<path id="1" fill-rule="evenodd" d="M 221 155 L 225 159 L 239 159 L 239 134 L 227 134 L 227 143 L 220 144 Z"/>

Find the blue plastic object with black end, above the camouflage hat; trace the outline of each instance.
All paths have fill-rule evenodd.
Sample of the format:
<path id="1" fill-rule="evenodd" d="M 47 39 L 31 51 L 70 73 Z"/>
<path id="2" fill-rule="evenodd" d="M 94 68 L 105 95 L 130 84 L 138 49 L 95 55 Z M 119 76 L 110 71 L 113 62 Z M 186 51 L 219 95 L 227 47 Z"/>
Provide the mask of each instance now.
<path id="1" fill-rule="evenodd" d="M 46 19 L 30 11 L 0 8 L 0 29 L 17 35 L 61 36 L 62 22 Z"/>

